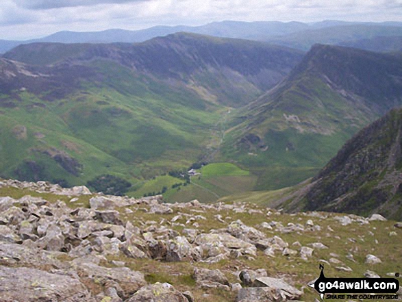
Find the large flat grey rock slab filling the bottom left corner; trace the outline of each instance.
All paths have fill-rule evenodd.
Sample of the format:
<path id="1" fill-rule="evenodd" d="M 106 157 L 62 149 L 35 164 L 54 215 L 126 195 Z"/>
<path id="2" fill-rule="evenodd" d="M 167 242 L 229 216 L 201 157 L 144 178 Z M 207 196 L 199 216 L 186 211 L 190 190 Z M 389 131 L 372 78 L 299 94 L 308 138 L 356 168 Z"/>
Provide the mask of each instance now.
<path id="1" fill-rule="evenodd" d="M 95 302 L 79 279 L 25 267 L 0 266 L 0 297 L 4 302 Z"/>

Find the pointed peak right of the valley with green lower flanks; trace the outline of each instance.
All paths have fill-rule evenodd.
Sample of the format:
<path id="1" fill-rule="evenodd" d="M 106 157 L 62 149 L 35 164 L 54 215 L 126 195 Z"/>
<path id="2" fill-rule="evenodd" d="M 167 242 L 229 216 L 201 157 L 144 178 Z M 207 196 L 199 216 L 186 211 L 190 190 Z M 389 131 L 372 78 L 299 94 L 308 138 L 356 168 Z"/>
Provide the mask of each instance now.
<path id="1" fill-rule="evenodd" d="M 221 155 L 251 166 L 257 188 L 291 186 L 401 104 L 401 55 L 316 45 L 286 81 L 232 116 Z"/>

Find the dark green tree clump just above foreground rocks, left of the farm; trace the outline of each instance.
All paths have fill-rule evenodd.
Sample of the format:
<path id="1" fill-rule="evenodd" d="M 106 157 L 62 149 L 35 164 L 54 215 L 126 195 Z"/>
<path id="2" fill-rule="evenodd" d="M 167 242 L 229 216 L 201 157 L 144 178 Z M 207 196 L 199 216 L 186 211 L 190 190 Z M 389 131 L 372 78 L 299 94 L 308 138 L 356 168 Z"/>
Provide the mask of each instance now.
<path id="1" fill-rule="evenodd" d="M 116 196 L 122 196 L 131 187 L 129 181 L 110 174 L 95 177 L 86 184 L 97 192 Z"/>

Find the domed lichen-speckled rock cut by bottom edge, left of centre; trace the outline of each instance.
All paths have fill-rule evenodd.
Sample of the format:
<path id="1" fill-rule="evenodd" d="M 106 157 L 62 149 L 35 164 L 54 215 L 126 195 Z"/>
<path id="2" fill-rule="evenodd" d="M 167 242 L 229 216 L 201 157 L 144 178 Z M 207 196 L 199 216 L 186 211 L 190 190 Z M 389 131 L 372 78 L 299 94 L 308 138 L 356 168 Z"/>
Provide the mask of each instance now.
<path id="1" fill-rule="evenodd" d="M 140 288 L 127 302 L 188 302 L 189 300 L 171 284 L 156 282 Z"/>

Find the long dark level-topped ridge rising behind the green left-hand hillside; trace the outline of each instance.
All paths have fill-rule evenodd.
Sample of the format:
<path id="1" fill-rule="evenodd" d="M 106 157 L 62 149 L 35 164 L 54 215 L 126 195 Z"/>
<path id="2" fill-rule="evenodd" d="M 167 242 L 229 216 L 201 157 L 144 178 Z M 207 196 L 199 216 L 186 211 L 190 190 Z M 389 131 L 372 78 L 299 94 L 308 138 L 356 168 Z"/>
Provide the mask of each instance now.
<path id="1" fill-rule="evenodd" d="M 241 105 L 277 84 L 302 55 L 263 42 L 179 33 L 136 45 L 21 45 L 3 57 L 42 65 L 67 59 L 69 64 L 82 65 L 106 59 L 136 73 L 176 79 L 194 90 L 206 89 L 219 103 Z"/>

